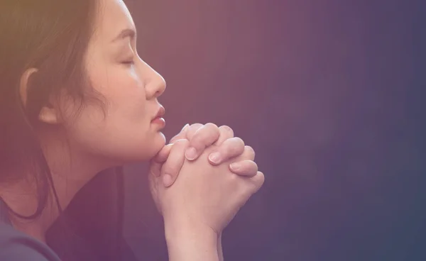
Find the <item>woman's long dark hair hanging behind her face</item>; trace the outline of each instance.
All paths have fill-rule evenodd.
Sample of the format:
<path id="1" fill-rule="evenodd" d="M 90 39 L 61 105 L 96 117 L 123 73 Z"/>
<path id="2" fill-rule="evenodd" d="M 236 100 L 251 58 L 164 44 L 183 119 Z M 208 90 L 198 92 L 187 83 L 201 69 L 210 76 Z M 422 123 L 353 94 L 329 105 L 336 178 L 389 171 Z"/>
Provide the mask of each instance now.
<path id="1" fill-rule="evenodd" d="M 35 130 L 38 114 L 51 97 L 66 91 L 80 109 L 102 96 L 90 87 L 84 67 L 94 19 L 99 13 L 96 0 L 2 0 L 0 2 L 0 182 L 34 179 L 38 208 L 35 218 L 47 204 L 50 191 L 58 204 L 52 177 Z M 28 81 L 27 101 L 23 104 L 19 85 L 26 70 L 36 68 Z M 79 111 L 76 111 L 76 115 Z M 115 177 L 122 179 L 120 174 Z M 122 186 L 122 182 L 116 182 Z M 122 203 L 122 188 L 117 190 Z M 59 206 L 59 204 L 58 204 Z M 116 209 L 118 223 L 122 206 Z M 121 225 L 118 226 L 119 228 Z M 121 229 L 119 229 L 121 233 Z"/>

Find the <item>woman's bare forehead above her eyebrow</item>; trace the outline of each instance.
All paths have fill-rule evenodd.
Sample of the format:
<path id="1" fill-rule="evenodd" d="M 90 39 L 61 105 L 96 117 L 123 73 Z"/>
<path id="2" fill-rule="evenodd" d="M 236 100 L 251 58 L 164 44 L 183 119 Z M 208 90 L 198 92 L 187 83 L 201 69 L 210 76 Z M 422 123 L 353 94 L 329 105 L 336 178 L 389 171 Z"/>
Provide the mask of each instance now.
<path id="1" fill-rule="evenodd" d="M 96 28 L 97 38 L 102 40 L 113 40 L 121 30 L 135 28 L 129 9 L 121 0 L 98 0 L 99 13 L 97 15 Z"/>

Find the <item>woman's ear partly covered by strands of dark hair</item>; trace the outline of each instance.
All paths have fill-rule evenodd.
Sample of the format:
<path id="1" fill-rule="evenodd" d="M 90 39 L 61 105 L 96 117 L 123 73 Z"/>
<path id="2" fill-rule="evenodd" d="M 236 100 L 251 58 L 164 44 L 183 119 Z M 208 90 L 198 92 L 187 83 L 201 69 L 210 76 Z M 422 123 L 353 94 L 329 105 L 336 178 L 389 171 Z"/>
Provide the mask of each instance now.
<path id="1" fill-rule="evenodd" d="M 35 68 L 30 68 L 23 72 L 21 77 L 21 82 L 19 86 L 19 94 L 21 94 L 21 101 L 23 106 L 26 106 L 27 103 L 27 94 L 28 94 L 28 82 L 30 77 L 38 72 Z M 52 103 L 45 104 L 41 109 L 40 113 L 38 114 L 38 119 L 43 123 L 48 124 L 58 124 L 60 123 L 60 113 L 58 111 L 58 108 L 55 108 Z"/>

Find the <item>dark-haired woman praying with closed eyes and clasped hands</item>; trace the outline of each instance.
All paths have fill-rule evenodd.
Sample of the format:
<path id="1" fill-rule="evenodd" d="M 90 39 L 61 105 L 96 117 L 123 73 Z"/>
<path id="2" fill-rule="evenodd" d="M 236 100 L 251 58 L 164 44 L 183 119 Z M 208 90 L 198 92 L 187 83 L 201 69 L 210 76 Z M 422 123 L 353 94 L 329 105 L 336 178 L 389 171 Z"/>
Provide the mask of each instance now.
<path id="1" fill-rule="evenodd" d="M 226 126 L 187 126 L 165 145 L 157 101 L 165 82 L 138 57 L 124 2 L 1 0 L 0 14 L 0 260 L 131 258 L 121 248 L 122 210 L 111 218 L 116 237 L 102 236 L 104 255 L 62 211 L 99 172 L 148 160 L 170 260 L 220 260 L 222 230 L 263 174 Z M 121 175 L 113 176 L 120 197 Z M 50 235 L 59 221 L 80 245 Z"/>

